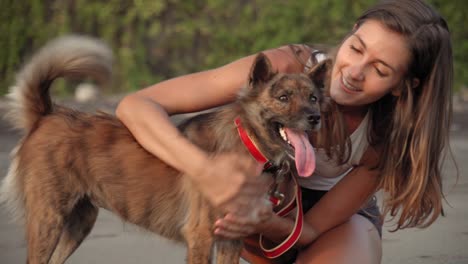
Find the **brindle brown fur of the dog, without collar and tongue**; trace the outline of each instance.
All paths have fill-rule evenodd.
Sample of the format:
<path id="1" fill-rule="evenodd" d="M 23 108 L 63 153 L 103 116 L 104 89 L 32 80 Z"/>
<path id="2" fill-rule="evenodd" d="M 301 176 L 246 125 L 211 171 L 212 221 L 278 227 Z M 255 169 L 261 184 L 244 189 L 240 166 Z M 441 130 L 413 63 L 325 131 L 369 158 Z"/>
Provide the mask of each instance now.
<path id="1" fill-rule="evenodd" d="M 210 153 L 249 156 L 234 119 L 238 116 L 274 164 L 290 160 L 278 124 L 296 130 L 318 127 L 317 86 L 329 62 L 305 74 L 280 74 L 259 54 L 239 99 L 179 126 Z M 75 111 L 52 102 L 58 77 L 106 79 L 111 52 L 86 37 L 46 45 L 20 71 L 11 90 L 10 120 L 24 132 L 12 153 L 2 197 L 25 220 L 28 263 L 63 263 L 91 231 L 98 208 L 163 237 L 185 241 L 189 263 L 207 263 L 216 244 L 218 263 L 237 263 L 242 243 L 213 235 L 218 209 L 190 178 L 143 149 L 114 116 Z M 313 81 L 311 81 L 313 80 Z M 280 101 L 287 95 L 287 102 Z M 284 99 L 284 98 L 283 98 Z M 314 119 L 311 122 L 311 118 Z"/>

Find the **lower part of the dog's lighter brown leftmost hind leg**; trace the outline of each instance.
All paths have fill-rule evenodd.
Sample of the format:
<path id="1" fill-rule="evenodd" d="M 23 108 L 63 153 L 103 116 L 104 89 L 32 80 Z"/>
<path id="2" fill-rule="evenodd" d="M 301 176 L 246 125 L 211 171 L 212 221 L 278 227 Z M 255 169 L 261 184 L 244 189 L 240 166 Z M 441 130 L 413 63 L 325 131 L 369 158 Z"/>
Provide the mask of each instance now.
<path id="1" fill-rule="evenodd" d="M 63 216 L 53 208 L 29 208 L 26 215 L 28 264 L 48 264 L 63 229 Z"/>

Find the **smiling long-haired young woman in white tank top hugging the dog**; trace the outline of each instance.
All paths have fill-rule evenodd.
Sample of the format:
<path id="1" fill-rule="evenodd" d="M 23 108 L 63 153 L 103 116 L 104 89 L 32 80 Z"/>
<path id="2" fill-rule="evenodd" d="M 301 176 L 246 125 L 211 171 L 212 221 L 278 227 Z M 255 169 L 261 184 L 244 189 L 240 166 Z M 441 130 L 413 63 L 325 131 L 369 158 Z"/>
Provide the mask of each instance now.
<path id="1" fill-rule="evenodd" d="M 280 72 L 302 72 L 323 56 L 307 46 L 265 54 Z M 117 116 L 143 147 L 191 175 L 208 199 L 225 208 L 215 233 L 229 238 L 262 233 L 276 241 L 289 235 L 293 222 L 259 202 L 258 166 L 229 155 L 209 156 L 168 118 L 235 100 L 254 56 L 131 94 Z M 300 182 L 305 226 L 293 258 L 296 263 L 379 263 L 376 190 L 386 193 L 384 215 L 398 214 L 396 229 L 426 227 L 442 212 L 440 161 L 451 119 L 450 34 L 445 20 L 421 0 L 383 1 L 358 18 L 333 57 L 328 93 L 334 107 L 324 113 L 324 129 L 311 136 L 319 148 L 317 169 Z M 269 263 L 255 243 L 246 243 L 246 249 L 248 261 Z"/>

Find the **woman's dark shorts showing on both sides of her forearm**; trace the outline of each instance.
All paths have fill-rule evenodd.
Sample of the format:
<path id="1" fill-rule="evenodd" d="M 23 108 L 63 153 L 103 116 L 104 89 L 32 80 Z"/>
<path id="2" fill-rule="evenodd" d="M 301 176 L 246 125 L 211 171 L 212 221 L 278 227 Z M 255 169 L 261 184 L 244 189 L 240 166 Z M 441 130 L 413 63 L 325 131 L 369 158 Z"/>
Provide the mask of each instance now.
<path id="1" fill-rule="evenodd" d="M 312 206 L 315 205 L 327 191 L 311 190 L 306 188 L 302 189 L 302 211 L 306 213 Z M 371 199 L 358 211 L 359 215 L 367 218 L 379 232 L 382 237 L 382 216 L 380 214 L 379 206 L 377 205 L 377 199 L 372 196 Z"/>

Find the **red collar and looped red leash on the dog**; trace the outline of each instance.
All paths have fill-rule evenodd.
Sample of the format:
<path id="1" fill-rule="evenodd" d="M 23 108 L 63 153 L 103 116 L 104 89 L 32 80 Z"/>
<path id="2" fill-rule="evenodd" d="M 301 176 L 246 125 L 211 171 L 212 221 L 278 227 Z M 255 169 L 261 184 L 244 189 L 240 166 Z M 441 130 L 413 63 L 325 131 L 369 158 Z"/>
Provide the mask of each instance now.
<path id="1" fill-rule="evenodd" d="M 242 142 L 244 145 L 247 147 L 249 150 L 250 154 L 252 157 L 258 161 L 259 163 L 263 164 L 264 169 L 268 169 L 269 167 L 272 166 L 272 164 L 268 161 L 268 159 L 260 152 L 258 147 L 255 145 L 255 143 L 252 141 L 252 139 L 249 137 L 247 132 L 242 126 L 241 120 L 239 117 L 235 119 L 235 124 L 237 127 L 237 132 L 239 133 L 239 137 L 241 138 Z M 294 208 L 297 208 L 296 210 L 296 221 L 294 223 L 294 228 L 291 234 L 279 245 L 276 247 L 273 247 L 271 249 L 267 249 L 263 245 L 263 236 L 260 235 L 259 238 L 259 244 L 260 248 L 263 251 L 263 254 L 267 258 L 277 258 L 281 255 L 283 255 L 286 251 L 288 251 L 290 248 L 296 244 L 297 240 L 299 240 L 299 237 L 301 236 L 302 233 L 302 228 L 304 225 L 304 215 L 302 213 L 302 195 L 301 195 L 301 188 L 299 187 L 299 184 L 297 183 L 296 179 L 294 177 L 293 182 L 294 182 L 294 189 L 295 189 L 295 197 L 291 202 L 283 207 L 281 210 L 279 210 L 276 214 L 285 217 L 287 216 Z M 275 205 L 279 205 L 281 203 L 281 199 L 278 199 L 278 197 L 271 196 L 270 201 Z"/>

